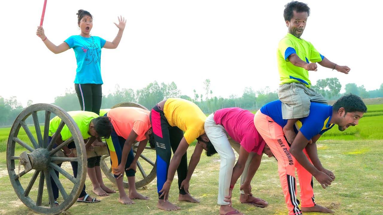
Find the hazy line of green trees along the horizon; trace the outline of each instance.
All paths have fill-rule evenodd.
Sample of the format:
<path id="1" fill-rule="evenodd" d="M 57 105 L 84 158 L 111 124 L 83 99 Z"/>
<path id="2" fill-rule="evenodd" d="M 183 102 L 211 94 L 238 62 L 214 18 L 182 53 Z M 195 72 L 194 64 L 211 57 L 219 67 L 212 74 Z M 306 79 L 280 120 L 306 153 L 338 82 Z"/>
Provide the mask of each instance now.
<path id="1" fill-rule="evenodd" d="M 229 98 L 221 96 L 213 96 L 213 89 L 210 87 L 210 79 L 203 82 L 203 90 L 193 90 L 193 94 L 182 94 L 177 88 L 177 85 L 172 83 L 158 83 L 154 81 L 146 87 L 133 90 L 131 88 L 121 88 L 116 85 L 115 90 L 111 93 L 103 95 L 101 109 L 111 108 L 115 104 L 131 101 L 142 104 L 148 109 L 151 109 L 159 101 L 166 98 L 183 98 L 193 101 L 206 114 L 214 112 L 221 108 L 239 107 L 243 109 L 256 110 L 262 105 L 278 99 L 276 90 L 271 90 L 266 87 L 262 90 L 255 91 L 251 87 L 245 87 L 241 96 L 230 95 Z M 326 78 L 317 81 L 316 85 L 312 86 L 316 91 L 321 93 L 328 100 L 336 100 L 342 94 L 340 90 L 342 85 L 337 78 Z M 364 85 L 357 86 L 355 83 L 348 83 L 344 86 L 345 93 L 352 93 L 361 98 L 380 98 L 383 97 L 383 83 L 379 89 L 367 91 Z M 33 104 L 33 101 L 28 100 L 27 106 Z M 79 99 L 73 89 L 65 90 L 64 95 L 57 96 L 54 99 L 55 105 L 63 108 L 65 111 L 80 110 Z M 11 125 L 17 115 L 24 109 L 16 96 L 3 98 L 0 96 L 0 126 Z M 39 114 L 39 121 L 43 122 L 43 113 Z M 28 122 L 27 123 L 32 123 Z"/>

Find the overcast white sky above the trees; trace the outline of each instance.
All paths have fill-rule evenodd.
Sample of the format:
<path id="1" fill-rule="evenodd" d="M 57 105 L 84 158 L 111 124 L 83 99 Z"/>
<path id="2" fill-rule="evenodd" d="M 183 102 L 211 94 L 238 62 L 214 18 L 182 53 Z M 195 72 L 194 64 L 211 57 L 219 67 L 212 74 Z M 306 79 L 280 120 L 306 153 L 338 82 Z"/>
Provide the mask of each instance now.
<path id="1" fill-rule="evenodd" d="M 2 41 L 0 96 L 17 96 L 25 106 L 52 103 L 74 87 L 76 60 L 72 49 L 53 54 L 36 36 L 43 0 L 1 3 Z M 113 22 L 128 20 L 117 49 L 103 49 L 103 93 L 134 90 L 156 80 L 175 81 L 183 94 L 203 93 L 211 80 L 213 96 L 241 95 L 244 87 L 275 90 L 279 76 L 276 50 L 287 28 L 283 20 L 288 0 L 48 0 L 46 36 L 56 45 L 79 34 L 77 10 L 94 16 L 93 36 L 112 41 Z M 329 60 L 351 68 L 349 75 L 319 66 L 316 80 L 337 77 L 367 90 L 383 83 L 381 1 L 306 0 L 311 8 L 302 38 Z"/>

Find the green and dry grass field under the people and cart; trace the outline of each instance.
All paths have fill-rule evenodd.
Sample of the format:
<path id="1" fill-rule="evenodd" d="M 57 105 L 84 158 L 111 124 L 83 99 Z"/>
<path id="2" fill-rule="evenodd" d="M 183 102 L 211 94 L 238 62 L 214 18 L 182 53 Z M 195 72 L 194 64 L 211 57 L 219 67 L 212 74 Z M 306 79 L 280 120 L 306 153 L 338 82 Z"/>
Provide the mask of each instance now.
<path id="1" fill-rule="evenodd" d="M 42 129 L 43 130 L 43 129 Z M 34 132 L 34 127 L 31 127 Z M 10 185 L 6 168 L 6 142 L 9 128 L 0 129 L 0 214 L 29 215 L 34 214 L 16 196 Z M 29 142 L 23 129 L 18 136 L 25 142 Z M 326 132 L 318 142 L 318 154 L 324 167 L 334 171 L 336 181 L 327 189 L 322 189 L 318 182 L 314 181 L 314 191 L 317 204 L 332 207 L 339 215 L 381 215 L 383 214 L 383 105 L 368 106 L 368 113 L 360 119 L 359 125 L 350 127 L 345 132 L 337 128 Z M 16 149 L 16 155 L 22 152 L 22 148 Z M 188 149 L 188 157 L 193 151 L 193 146 Z M 154 158 L 154 153 L 148 155 Z M 148 167 L 145 167 L 148 168 Z M 71 173 L 70 166 L 66 169 Z M 67 213 L 69 214 L 204 214 L 218 215 L 216 205 L 218 194 L 219 156 L 207 157 L 203 155 L 191 179 L 191 194 L 201 200 L 200 204 L 191 204 L 177 201 L 177 182 L 173 181 L 170 200 L 175 202 L 183 210 L 177 212 L 163 212 L 157 209 L 157 193 L 155 180 L 147 185 L 147 189 L 139 192 L 151 197 L 149 201 L 136 200 L 135 205 L 121 205 L 117 202 L 118 194 L 101 197 L 102 201 L 96 204 L 74 204 Z M 29 182 L 32 172 L 22 177 L 21 183 Z M 141 175 L 137 178 L 142 177 Z M 71 183 L 60 180 L 66 189 L 70 189 Z M 116 189 L 108 179 L 104 178 L 107 185 Z M 37 184 L 35 183 L 31 194 L 36 195 Z M 73 184 L 72 184 L 73 185 Z M 87 179 L 87 192 L 92 194 L 90 180 Z M 249 205 L 241 205 L 238 200 L 238 185 L 235 188 L 234 207 L 245 214 L 259 215 L 284 215 L 287 209 L 277 172 L 277 162 L 273 158 L 264 156 L 262 165 L 252 181 L 253 194 L 269 202 L 267 208 L 254 208 Z M 299 185 L 298 185 L 299 190 Z M 234 193 L 234 192 L 233 192 Z M 47 197 L 43 198 L 43 204 L 48 205 Z M 60 199 L 59 199 L 60 202 Z M 305 213 L 316 215 L 319 213 Z"/>

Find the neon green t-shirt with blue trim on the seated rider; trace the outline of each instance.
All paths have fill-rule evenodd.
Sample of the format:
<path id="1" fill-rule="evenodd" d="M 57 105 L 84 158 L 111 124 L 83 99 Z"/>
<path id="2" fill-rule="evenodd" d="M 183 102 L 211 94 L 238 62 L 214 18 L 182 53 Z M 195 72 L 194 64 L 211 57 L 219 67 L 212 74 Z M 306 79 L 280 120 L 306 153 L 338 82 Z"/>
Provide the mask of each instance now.
<path id="1" fill-rule="evenodd" d="M 278 44 L 277 62 L 280 75 L 280 84 L 299 82 L 310 87 L 309 72 L 301 67 L 296 67 L 288 60 L 288 56 L 296 54 L 309 63 L 321 62 L 324 58 L 308 41 L 299 39 L 288 33 Z"/>

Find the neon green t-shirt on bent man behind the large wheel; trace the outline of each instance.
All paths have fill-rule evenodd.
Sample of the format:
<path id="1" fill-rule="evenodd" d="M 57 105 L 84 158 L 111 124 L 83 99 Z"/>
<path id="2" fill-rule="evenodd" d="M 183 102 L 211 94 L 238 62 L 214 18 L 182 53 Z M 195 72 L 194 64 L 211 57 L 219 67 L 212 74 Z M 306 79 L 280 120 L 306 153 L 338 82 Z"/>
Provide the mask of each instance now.
<path id="1" fill-rule="evenodd" d="M 92 121 L 92 119 L 97 118 L 98 115 L 89 111 L 69 111 L 68 114 L 73 118 L 73 120 L 79 127 L 82 138 L 84 140 L 89 138 L 90 135 L 88 132 L 90 121 Z M 53 117 L 53 119 L 51 119 L 51 121 L 49 122 L 49 136 L 52 136 L 54 132 L 56 132 L 60 122 L 61 119 L 58 116 L 55 116 Z M 64 127 L 61 130 L 61 139 L 65 141 L 70 137 L 72 137 L 72 134 L 70 134 L 68 126 L 64 125 Z"/>

